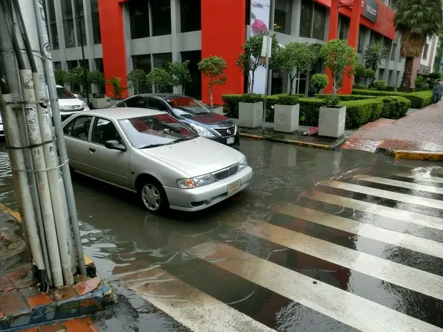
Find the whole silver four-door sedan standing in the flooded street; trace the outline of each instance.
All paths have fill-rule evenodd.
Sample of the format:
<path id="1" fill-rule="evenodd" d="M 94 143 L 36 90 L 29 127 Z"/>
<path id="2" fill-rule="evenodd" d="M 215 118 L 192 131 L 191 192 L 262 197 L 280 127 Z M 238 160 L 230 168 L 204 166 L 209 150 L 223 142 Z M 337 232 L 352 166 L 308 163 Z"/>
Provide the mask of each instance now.
<path id="1" fill-rule="evenodd" d="M 165 112 L 83 111 L 63 127 L 73 171 L 138 192 L 151 212 L 203 210 L 244 190 L 253 175 L 239 151 Z"/>

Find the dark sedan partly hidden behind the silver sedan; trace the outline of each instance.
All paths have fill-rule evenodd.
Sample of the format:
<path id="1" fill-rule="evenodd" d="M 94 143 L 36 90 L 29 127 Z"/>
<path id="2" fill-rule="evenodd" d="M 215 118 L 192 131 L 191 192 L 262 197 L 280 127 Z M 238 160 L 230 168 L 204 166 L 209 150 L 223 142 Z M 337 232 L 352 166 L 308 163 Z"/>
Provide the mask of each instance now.
<path id="1" fill-rule="evenodd" d="M 204 104 L 187 95 L 144 94 L 122 100 L 116 107 L 141 107 L 166 111 L 194 129 L 199 136 L 230 147 L 239 146 L 239 129 L 233 120 L 210 111 Z"/>

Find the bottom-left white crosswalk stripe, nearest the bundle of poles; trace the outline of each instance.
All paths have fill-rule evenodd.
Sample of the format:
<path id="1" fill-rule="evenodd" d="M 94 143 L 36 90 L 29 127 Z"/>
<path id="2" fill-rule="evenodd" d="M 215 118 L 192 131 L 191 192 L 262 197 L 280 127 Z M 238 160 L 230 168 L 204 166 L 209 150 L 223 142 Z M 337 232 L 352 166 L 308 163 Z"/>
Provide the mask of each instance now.
<path id="1" fill-rule="evenodd" d="M 174 320 L 195 332 L 275 331 L 160 268 L 161 279 L 129 286 Z"/>

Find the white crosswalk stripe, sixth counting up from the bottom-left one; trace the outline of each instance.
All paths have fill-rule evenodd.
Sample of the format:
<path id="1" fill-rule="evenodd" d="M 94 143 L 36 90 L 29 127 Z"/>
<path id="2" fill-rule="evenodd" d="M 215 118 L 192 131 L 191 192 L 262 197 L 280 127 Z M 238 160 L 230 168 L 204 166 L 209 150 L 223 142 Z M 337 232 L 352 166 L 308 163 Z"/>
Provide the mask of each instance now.
<path id="1" fill-rule="evenodd" d="M 383 199 L 395 199 L 395 201 L 400 201 L 404 203 L 423 205 L 427 206 L 428 208 L 443 209 L 443 201 L 437 201 L 436 199 L 424 199 L 422 197 L 417 197 L 407 194 L 399 194 L 398 192 L 390 192 L 388 190 L 363 187 L 363 185 L 353 185 L 352 183 L 344 183 L 334 180 L 323 181 L 321 184 L 327 185 L 328 187 L 350 190 L 352 192 L 359 192 L 361 194 L 377 196 Z"/>

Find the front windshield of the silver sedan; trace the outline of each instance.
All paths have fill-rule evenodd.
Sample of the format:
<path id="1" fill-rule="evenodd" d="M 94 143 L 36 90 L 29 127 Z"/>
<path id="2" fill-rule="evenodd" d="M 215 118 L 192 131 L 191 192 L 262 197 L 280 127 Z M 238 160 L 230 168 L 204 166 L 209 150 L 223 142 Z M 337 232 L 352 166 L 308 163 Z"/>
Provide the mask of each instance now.
<path id="1" fill-rule="evenodd" d="M 127 138 L 137 149 L 159 147 L 198 137 L 169 114 L 130 118 L 119 122 Z"/>

